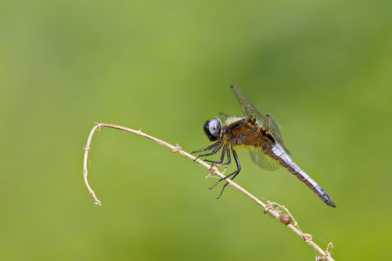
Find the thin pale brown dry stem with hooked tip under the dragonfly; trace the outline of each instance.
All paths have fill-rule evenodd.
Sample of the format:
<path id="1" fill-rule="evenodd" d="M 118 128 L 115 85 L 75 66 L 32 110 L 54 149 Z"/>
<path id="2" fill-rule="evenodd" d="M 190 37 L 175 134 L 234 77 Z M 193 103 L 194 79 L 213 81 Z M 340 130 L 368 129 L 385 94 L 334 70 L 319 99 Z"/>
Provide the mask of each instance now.
<path id="1" fill-rule="evenodd" d="M 93 138 L 94 132 L 98 129 L 100 130 L 101 127 L 109 127 L 109 128 L 114 128 L 114 129 L 119 129 L 119 130 L 123 130 L 126 132 L 131 132 L 140 136 L 143 136 L 145 138 L 148 138 L 150 140 L 153 140 L 154 142 L 158 142 L 159 144 L 165 145 L 169 148 L 171 148 L 173 150 L 174 153 L 179 153 L 181 155 L 184 155 L 185 157 L 188 157 L 192 160 L 195 161 L 196 157 L 181 150 L 181 147 L 176 144 L 175 146 L 173 146 L 172 144 L 169 144 L 167 142 L 158 140 L 152 136 L 149 136 L 145 133 L 142 132 L 142 129 L 139 130 L 133 130 L 130 128 L 126 128 L 123 126 L 119 126 L 119 125 L 114 125 L 114 124 L 107 124 L 107 123 L 95 123 L 94 128 L 91 130 L 90 135 L 87 139 L 87 144 L 86 147 L 84 148 L 84 159 L 83 159 L 83 176 L 84 176 L 84 182 L 86 183 L 86 186 L 88 188 L 88 190 L 90 191 L 90 194 L 93 195 L 94 199 L 95 199 L 95 204 L 97 205 L 101 205 L 101 202 L 98 200 L 94 190 L 91 189 L 88 181 L 87 181 L 87 159 L 88 159 L 88 154 L 90 151 L 90 145 L 91 145 L 91 140 Z M 202 166 L 204 166 L 205 168 L 207 168 L 208 170 L 211 171 L 211 173 L 207 176 L 211 176 L 211 175 L 218 175 L 221 178 L 224 178 L 225 175 L 223 173 L 221 173 L 218 170 L 218 167 L 214 166 L 211 167 L 210 165 L 208 165 L 207 163 L 205 163 L 204 161 L 200 160 L 200 159 L 196 159 L 196 162 Z M 224 171 L 223 171 L 224 172 Z M 206 177 L 206 178 L 207 178 Z M 278 210 L 275 210 L 275 208 L 273 208 L 273 206 L 276 207 L 280 207 L 282 209 L 284 209 L 291 217 L 293 217 L 290 212 L 282 205 L 279 205 L 277 203 L 274 202 L 268 202 L 267 204 L 262 202 L 261 200 L 259 200 L 257 197 L 253 196 L 252 194 L 250 194 L 248 191 L 246 191 L 245 189 L 243 189 L 240 185 L 236 184 L 234 181 L 230 180 L 229 178 L 225 179 L 231 186 L 233 186 L 234 188 L 236 188 L 237 190 L 240 190 L 242 193 L 244 193 L 247 197 L 249 197 L 250 199 L 252 199 L 254 202 L 256 202 L 256 204 L 258 204 L 259 206 L 261 206 L 264 209 L 265 213 L 270 214 L 271 216 L 275 217 L 276 219 L 279 220 L 279 214 L 280 212 L 278 212 Z M 295 221 L 294 217 L 294 225 L 297 226 L 297 222 Z M 282 223 L 283 224 L 283 223 Z M 305 240 L 305 242 L 307 242 L 309 245 L 311 245 L 319 254 L 320 257 L 317 257 L 316 260 L 327 260 L 327 261 L 334 261 L 334 259 L 331 257 L 331 254 L 328 252 L 328 248 L 330 246 L 332 246 L 332 243 L 329 243 L 327 246 L 327 249 L 324 251 L 322 250 L 315 242 L 312 241 L 312 235 L 310 234 L 304 234 L 302 233 L 302 231 L 299 230 L 299 227 L 295 227 L 292 224 L 284 224 L 285 226 L 287 226 L 289 229 L 291 229 L 295 234 L 297 234 L 299 237 L 301 237 L 303 240 Z"/>

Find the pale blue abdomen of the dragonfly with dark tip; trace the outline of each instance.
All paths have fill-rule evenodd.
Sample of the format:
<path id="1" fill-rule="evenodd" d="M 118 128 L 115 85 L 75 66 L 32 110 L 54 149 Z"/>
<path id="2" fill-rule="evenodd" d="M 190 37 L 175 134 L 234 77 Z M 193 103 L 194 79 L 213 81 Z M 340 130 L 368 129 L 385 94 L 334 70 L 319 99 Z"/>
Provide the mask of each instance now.
<path id="1" fill-rule="evenodd" d="M 328 193 L 323 190 L 316 181 L 314 181 L 308 174 L 300 169 L 284 152 L 279 145 L 274 145 L 269 151 L 269 156 L 277 160 L 282 166 L 286 167 L 292 174 L 306 184 L 309 189 L 313 190 L 319 198 L 328 206 L 336 208 L 336 204 L 331 200 Z"/>

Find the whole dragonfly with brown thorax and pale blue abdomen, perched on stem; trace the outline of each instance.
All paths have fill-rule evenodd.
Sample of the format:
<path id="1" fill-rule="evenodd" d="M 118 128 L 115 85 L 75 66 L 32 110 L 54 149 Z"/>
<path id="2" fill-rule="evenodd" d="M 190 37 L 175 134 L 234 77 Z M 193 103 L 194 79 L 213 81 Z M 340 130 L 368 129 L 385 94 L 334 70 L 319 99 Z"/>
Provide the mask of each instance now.
<path id="1" fill-rule="evenodd" d="M 224 178 L 219 179 L 209 189 L 212 190 L 222 180 L 227 178 L 233 180 L 240 173 L 241 165 L 235 148 L 243 147 L 249 150 L 251 159 L 261 168 L 266 170 L 275 170 L 282 166 L 287 168 L 290 173 L 294 174 L 313 190 L 325 204 L 336 208 L 336 204 L 331 200 L 327 192 L 290 159 L 289 156 L 291 153 L 284 145 L 279 125 L 275 119 L 270 114 L 266 114 L 266 116 L 261 115 L 237 86 L 231 85 L 231 90 L 239 100 L 245 118 L 228 116 L 221 113 L 220 118 L 224 120 L 224 125 L 220 118 L 214 117 L 213 119 L 207 120 L 203 125 L 204 133 L 210 142 L 215 143 L 206 148 L 191 152 L 191 154 L 194 154 L 212 150 L 211 152 L 198 155 L 196 158 L 198 159 L 199 157 L 214 155 L 222 149 L 221 159 L 219 161 L 204 160 L 205 162 L 211 163 L 211 167 L 214 164 L 217 166 L 229 165 L 231 163 L 231 154 L 233 155 L 237 169 Z M 224 162 L 225 155 L 227 158 L 226 162 Z M 227 182 L 223 185 L 221 193 L 217 198 L 221 197 L 227 185 Z"/>

